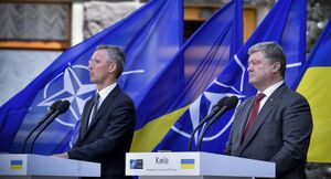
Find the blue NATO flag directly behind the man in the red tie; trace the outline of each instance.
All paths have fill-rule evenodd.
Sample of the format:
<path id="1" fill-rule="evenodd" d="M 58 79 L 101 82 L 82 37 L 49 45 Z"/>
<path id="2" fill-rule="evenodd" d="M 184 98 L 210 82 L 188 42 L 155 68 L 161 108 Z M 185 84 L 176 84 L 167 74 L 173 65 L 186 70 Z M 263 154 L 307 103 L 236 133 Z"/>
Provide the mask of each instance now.
<path id="1" fill-rule="evenodd" d="M 306 24 L 299 23 L 306 19 L 305 15 L 305 0 L 278 0 L 224 71 L 220 73 L 197 99 L 182 112 L 182 115 L 154 150 L 186 151 L 193 129 L 212 110 L 217 101 L 224 96 L 237 96 L 241 99 L 237 104 L 238 106 L 244 99 L 256 93 L 256 90 L 248 83 L 246 71 L 247 51 L 253 44 L 264 41 L 277 41 L 287 54 L 287 65 L 291 69 L 298 67 L 299 65 L 290 64 L 302 63 L 300 55 L 305 53 L 305 49 L 301 49 L 301 44 L 296 43 L 296 41 L 298 39 L 303 39 L 305 41 L 306 34 L 302 32 L 306 32 Z M 297 35 L 290 36 L 288 34 Z M 292 41 L 293 44 L 291 46 L 289 42 Z M 292 80 L 290 80 L 292 78 L 291 75 L 287 74 L 287 82 L 292 83 Z M 201 145 L 203 151 L 223 154 L 225 144 L 228 140 L 234 110 L 226 112 L 206 131 Z M 197 141 L 204 127 L 194 136 L 193 150 L 197 150 Z"/>

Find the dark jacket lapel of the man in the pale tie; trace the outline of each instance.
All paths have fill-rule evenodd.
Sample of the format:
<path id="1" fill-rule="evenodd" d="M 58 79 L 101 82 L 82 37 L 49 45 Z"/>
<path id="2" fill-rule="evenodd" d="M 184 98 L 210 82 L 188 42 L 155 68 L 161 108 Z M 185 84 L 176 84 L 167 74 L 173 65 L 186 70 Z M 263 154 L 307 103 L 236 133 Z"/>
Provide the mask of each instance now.
<path id="1" fill-rule="evenodd" d="M 86 133 L 88 133 L 90 130 L 90 128 L 93 128 L 94 125 L 97 123 L 97 120 L 99 120 L 102 118 L 103 113 L 105 113 L 105 110 L 109 109 L 109 106 L 111 106 L 111 103 L 114 102 L 114 97 L 116 95 L 118 95 L 119 92 L 120 92 L 120 88 L 118 85 L 116 85 L 116 87 L 108 94 L 108 96 L 103 102 L 102 106 L 98 108 L 97 114 L 95 115 L 95 118 L 93 118 L 89 126 L 87 127 Z"/>

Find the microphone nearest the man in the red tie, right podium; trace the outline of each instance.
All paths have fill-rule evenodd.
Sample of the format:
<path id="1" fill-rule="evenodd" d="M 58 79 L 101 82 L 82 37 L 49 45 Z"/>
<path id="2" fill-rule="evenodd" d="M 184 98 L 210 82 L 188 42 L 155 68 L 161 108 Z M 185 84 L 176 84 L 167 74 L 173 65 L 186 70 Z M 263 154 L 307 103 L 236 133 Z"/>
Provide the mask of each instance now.
<path id="1" fill-rule="evenodd" d="M 238 101 L 239 99 L 237 96 L 231 96 L 225 101 L 224 106 L 218 110 L 218 113 L 211 119 L 211 122 L 203 129 L 201 137 L 199 138 L 199 143 L 197 143 L 199 151 L 201 151 L 201 143 L 202 143 L 203 136 L 205 135 L 206 130 L 212 126 L 213 123 L 215 123 L 221 117 L 221 115 L 223 115 L 226 110 L 235 107 L 237 105 Z"/>

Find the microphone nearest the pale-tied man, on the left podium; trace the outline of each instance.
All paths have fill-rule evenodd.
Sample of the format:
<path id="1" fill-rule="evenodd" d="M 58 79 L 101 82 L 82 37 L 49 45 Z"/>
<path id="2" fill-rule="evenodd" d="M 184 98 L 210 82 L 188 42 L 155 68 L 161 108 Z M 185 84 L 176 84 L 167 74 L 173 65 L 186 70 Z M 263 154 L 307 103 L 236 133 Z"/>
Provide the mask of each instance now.
<path id="1" fill-rule="evenodd" d="M 46 127 L 49 127 L 49 125 L 61 114 L 63 114 L 64 112 L 66 112 L 71 106 L 71 103 L 68 101 L 63 101 L 61 102 L 57 107 L 56 107 L 56 112 L 54 114 L 52 114 L 50 116 L 50 118 L 46 120 L 46 124 L 43 126 L 43 128 L 36 134 L 36 136 L 34 137 L 31 148 L 30 148 L 30 154 L 33 152 L 33 147 L 34 147 L 34 143 L 35 140 L 39 138 L 39 136 L 46 129 Z"/>

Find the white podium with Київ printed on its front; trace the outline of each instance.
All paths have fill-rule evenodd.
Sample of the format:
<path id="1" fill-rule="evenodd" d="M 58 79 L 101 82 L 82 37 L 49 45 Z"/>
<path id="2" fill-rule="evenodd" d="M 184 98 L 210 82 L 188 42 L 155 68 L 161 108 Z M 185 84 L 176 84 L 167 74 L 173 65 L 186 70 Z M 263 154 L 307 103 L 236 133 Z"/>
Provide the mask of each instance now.
<path id="1" fill-rule="evenodd" d="M 128 152 L 126 175 L 139 179 L 275 178 L 276 165 L 210 152 Z"/>

